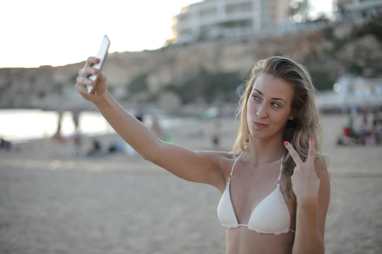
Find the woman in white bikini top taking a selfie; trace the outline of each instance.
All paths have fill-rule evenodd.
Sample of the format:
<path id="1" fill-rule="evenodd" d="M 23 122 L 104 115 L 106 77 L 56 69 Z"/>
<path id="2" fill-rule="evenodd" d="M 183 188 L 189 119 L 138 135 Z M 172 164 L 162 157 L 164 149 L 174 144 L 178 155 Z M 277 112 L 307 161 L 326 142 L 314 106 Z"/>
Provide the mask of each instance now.
<path id="1" fill-rule="evenodd" d="M 330 184 L 320 153 L 322 130 L 308 71 L 284 57 L 261 60 L 241 96 L 233 152 L 192 151 L 158 139 L 106 90 L 89 57 L 76 89 L 141 156 L 174 175 L 221 192 L 218 217 L 227 254 L 324 253 Z M 171 156 L 168 156 L 171 155 Z"/>

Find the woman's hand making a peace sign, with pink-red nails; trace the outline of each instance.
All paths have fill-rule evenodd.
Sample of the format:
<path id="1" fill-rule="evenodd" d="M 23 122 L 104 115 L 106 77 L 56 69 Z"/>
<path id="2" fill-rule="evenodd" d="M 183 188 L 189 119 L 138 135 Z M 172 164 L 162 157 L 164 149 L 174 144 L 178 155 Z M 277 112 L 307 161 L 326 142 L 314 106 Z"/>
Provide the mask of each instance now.
<path id="1" fill-rule="evenodd" d="M 302 162 L 299 154 L 290 143 L 284 142 L 284 145 L 288 149 L 293 161 L 296 163 L 291 181 L 297 203 L 302 204 L 305 202 L 317 202 L 320 189 L 320 179 L 317 177 L 314 168 L 314 139 L 310 138 L 309 140 L 309 154 L 306 162 Z"/>

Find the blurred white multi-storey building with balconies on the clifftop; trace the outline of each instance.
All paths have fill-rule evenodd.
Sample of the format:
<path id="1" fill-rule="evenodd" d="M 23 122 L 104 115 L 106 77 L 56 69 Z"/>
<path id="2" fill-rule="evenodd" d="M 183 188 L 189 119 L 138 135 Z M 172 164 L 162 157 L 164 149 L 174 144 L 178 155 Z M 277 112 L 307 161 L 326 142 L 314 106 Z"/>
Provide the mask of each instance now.
<path id="1" fill-rule="evenodd" d="M 269 32 L 289 18 L 290 0 L 205 0 L 173 18 L 174 42 L 242 37 Z"/>

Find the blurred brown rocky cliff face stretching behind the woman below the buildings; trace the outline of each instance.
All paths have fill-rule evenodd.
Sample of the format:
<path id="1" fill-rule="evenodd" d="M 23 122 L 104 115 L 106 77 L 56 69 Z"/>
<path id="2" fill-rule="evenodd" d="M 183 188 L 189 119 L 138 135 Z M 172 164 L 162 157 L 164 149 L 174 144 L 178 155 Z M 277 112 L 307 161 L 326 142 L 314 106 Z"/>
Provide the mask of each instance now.
<path id="1" fill-rule="evenodd" d="M 181 86 L 197 76 L 201 69 L 209 73 L 239 73 L 245 79 L 254 63 L 272 55 L 284 55 L 306 64 L 306 59 L 327 69 L 335 80 L 346 72 L 339 61 L 354 60 L 362 63 L 372 59 L 382 66 L 381 41 L 365 35 L 356 41 L 344 42 L 351 26 L 339 27 L 327 35 L 324 31 L 281 37 L 252 37 L 241 41 L 202 42 L 187 46 L 171 45 L 156 51 L 109 54 L 103 72 L 110 87 L 122 91 L 137 76 L 144 75 L 148 94 L 159 94 L 163 87 Z M 336 49 L 336 40 L 343 45 Z M 373 54 L 371 54 L 371 52 Z M 312 58 L 312 55 L 314 57 Z M 313 59 L 313 60 L 312 60 Z M 43 107 L 41 102 L 51 94 L 73 90 L 78 71 L 84 62 L 60 67 L 0 69 L 0 108 Z M 309 64 L 308 64 L 309 68 Z M 120 92 L 116 92 L 116 96 Z M 147 96 L 146 96 L 147 97 Z"/>

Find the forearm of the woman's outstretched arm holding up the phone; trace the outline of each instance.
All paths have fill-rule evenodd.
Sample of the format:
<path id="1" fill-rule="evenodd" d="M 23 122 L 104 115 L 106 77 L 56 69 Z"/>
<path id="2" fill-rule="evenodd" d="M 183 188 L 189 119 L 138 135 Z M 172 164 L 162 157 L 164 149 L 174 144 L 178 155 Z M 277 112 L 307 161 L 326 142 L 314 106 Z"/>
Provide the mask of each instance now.
<path id="1" fill-rule="evenodd" d="M 147 126 L 123 109 L 109 92 L 106 91 L 94 105 L 121 138 L 144 159 L 150 160 L 155 156 L 153 148 L 157 147 L 159 139 Z"/>

